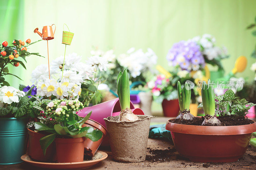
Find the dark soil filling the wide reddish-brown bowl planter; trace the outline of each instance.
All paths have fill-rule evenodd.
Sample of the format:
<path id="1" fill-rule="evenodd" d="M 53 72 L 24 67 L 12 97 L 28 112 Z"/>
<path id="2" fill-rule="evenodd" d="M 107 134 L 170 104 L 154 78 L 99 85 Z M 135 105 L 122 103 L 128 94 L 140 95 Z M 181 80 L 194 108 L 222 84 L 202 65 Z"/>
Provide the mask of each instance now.
<path id="1" fill-rule="evenodd" d="M 250 119 L 247 119 L 243 116 L 223 116 L 218 117 L 221 122 L 221 126 L 237 126 L 237 125 L 245 125 L 245 124 L 253 124 L 254 122 Z M 175 124 L 187 124 L 187 125 L 197 125 L 201 126 L 204 121 L 204 117 L 195 117 L 193 120 L 185 120 L 185 119 L 171 119 L 169 122 Z M 206 124 L 206 126 L 216 126 L 212 124 Z"/>

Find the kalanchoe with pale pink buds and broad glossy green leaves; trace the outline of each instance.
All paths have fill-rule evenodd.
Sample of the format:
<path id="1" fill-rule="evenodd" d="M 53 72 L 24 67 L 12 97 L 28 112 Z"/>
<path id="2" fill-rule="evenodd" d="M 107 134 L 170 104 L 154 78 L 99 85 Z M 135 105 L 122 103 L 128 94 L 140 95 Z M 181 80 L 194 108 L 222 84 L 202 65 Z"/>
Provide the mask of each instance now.
<path id="1" fill-rule="evenodd" d="M 46 106 L 46 119 L 35 122 L 34 126 L 37 131 L 46 131 L 49 135 L 40 139 L 40 145 L 46 152 L 47 147 L 56 137 L 80 138 L 86 137 L 92 141 L 98 141 L 102 137 L 102 132 L 94 130 L 93 127 L 82 127 L 84 122 L 89 119 L 92 112 L 82 118 L 76 114 L 76 111 L 83 109 L 83 103 L 78 100 L 53 100 Z M 49 118 L 52 118 L 49 123 Z"/>

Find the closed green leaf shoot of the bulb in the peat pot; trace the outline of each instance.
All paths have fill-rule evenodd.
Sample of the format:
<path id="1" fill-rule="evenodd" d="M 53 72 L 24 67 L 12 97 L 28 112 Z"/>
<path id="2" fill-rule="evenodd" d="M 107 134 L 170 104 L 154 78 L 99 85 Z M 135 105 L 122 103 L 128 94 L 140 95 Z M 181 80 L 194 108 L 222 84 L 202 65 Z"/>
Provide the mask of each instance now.
<path id="1" fill-rule="evenodd" d="M 130 108 L 130 85 L 127 70 L 119 72 L 117 76 L 117 94 L 120 101 L 121 109 Z"/>

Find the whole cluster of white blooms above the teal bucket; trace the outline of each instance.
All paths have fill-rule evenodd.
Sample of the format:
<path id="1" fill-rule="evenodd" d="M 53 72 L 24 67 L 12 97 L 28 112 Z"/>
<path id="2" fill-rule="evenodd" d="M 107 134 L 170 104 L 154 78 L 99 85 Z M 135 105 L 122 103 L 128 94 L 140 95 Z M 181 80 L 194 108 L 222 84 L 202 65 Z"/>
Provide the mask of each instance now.
<path id="1" fill-rule="evenodd" d="M 23 96 L 25 96 L 24 91 L 15 89 L 12 86 L 3 86 L 2 88 L 0 88 L 0 107 L 3 107 L 4 103 L 19 103 L 19 97 Z"/>

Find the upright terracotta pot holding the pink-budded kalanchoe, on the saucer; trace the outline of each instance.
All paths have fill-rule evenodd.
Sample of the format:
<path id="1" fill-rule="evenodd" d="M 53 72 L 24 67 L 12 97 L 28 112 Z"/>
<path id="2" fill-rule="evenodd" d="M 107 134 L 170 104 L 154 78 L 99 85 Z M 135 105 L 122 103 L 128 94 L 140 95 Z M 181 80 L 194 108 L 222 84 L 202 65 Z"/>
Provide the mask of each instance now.
<path id="1" fill-rule="evenodd" d="M 57 162 L 71 163 L 84 161 L 85 138 L 56 138 Z"/>

